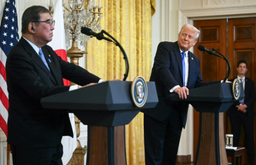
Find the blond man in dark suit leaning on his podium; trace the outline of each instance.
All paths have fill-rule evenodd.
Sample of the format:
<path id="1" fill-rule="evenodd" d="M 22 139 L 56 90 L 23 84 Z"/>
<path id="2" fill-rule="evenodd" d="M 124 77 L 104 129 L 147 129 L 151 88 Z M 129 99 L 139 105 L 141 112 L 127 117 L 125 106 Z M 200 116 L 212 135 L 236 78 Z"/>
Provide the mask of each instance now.
<path id="1" fill-rule="evenodd" d="M 189 52 L 200 31 L 184 25 L 177 42 L 161 42 L 157 47 L 150 81 L 155 81 L 159 103 L 144 112 L 144 142 L 146 164 L 175 165 L 182 128 L 185 128 L 188 104 L 171 102 L 168 96 L 176 92 L 186 99 L 189 89 L 214 84 L 203 83 L 200 61 Z M 220 82 L 220 81 L 218 81 Z"/>

